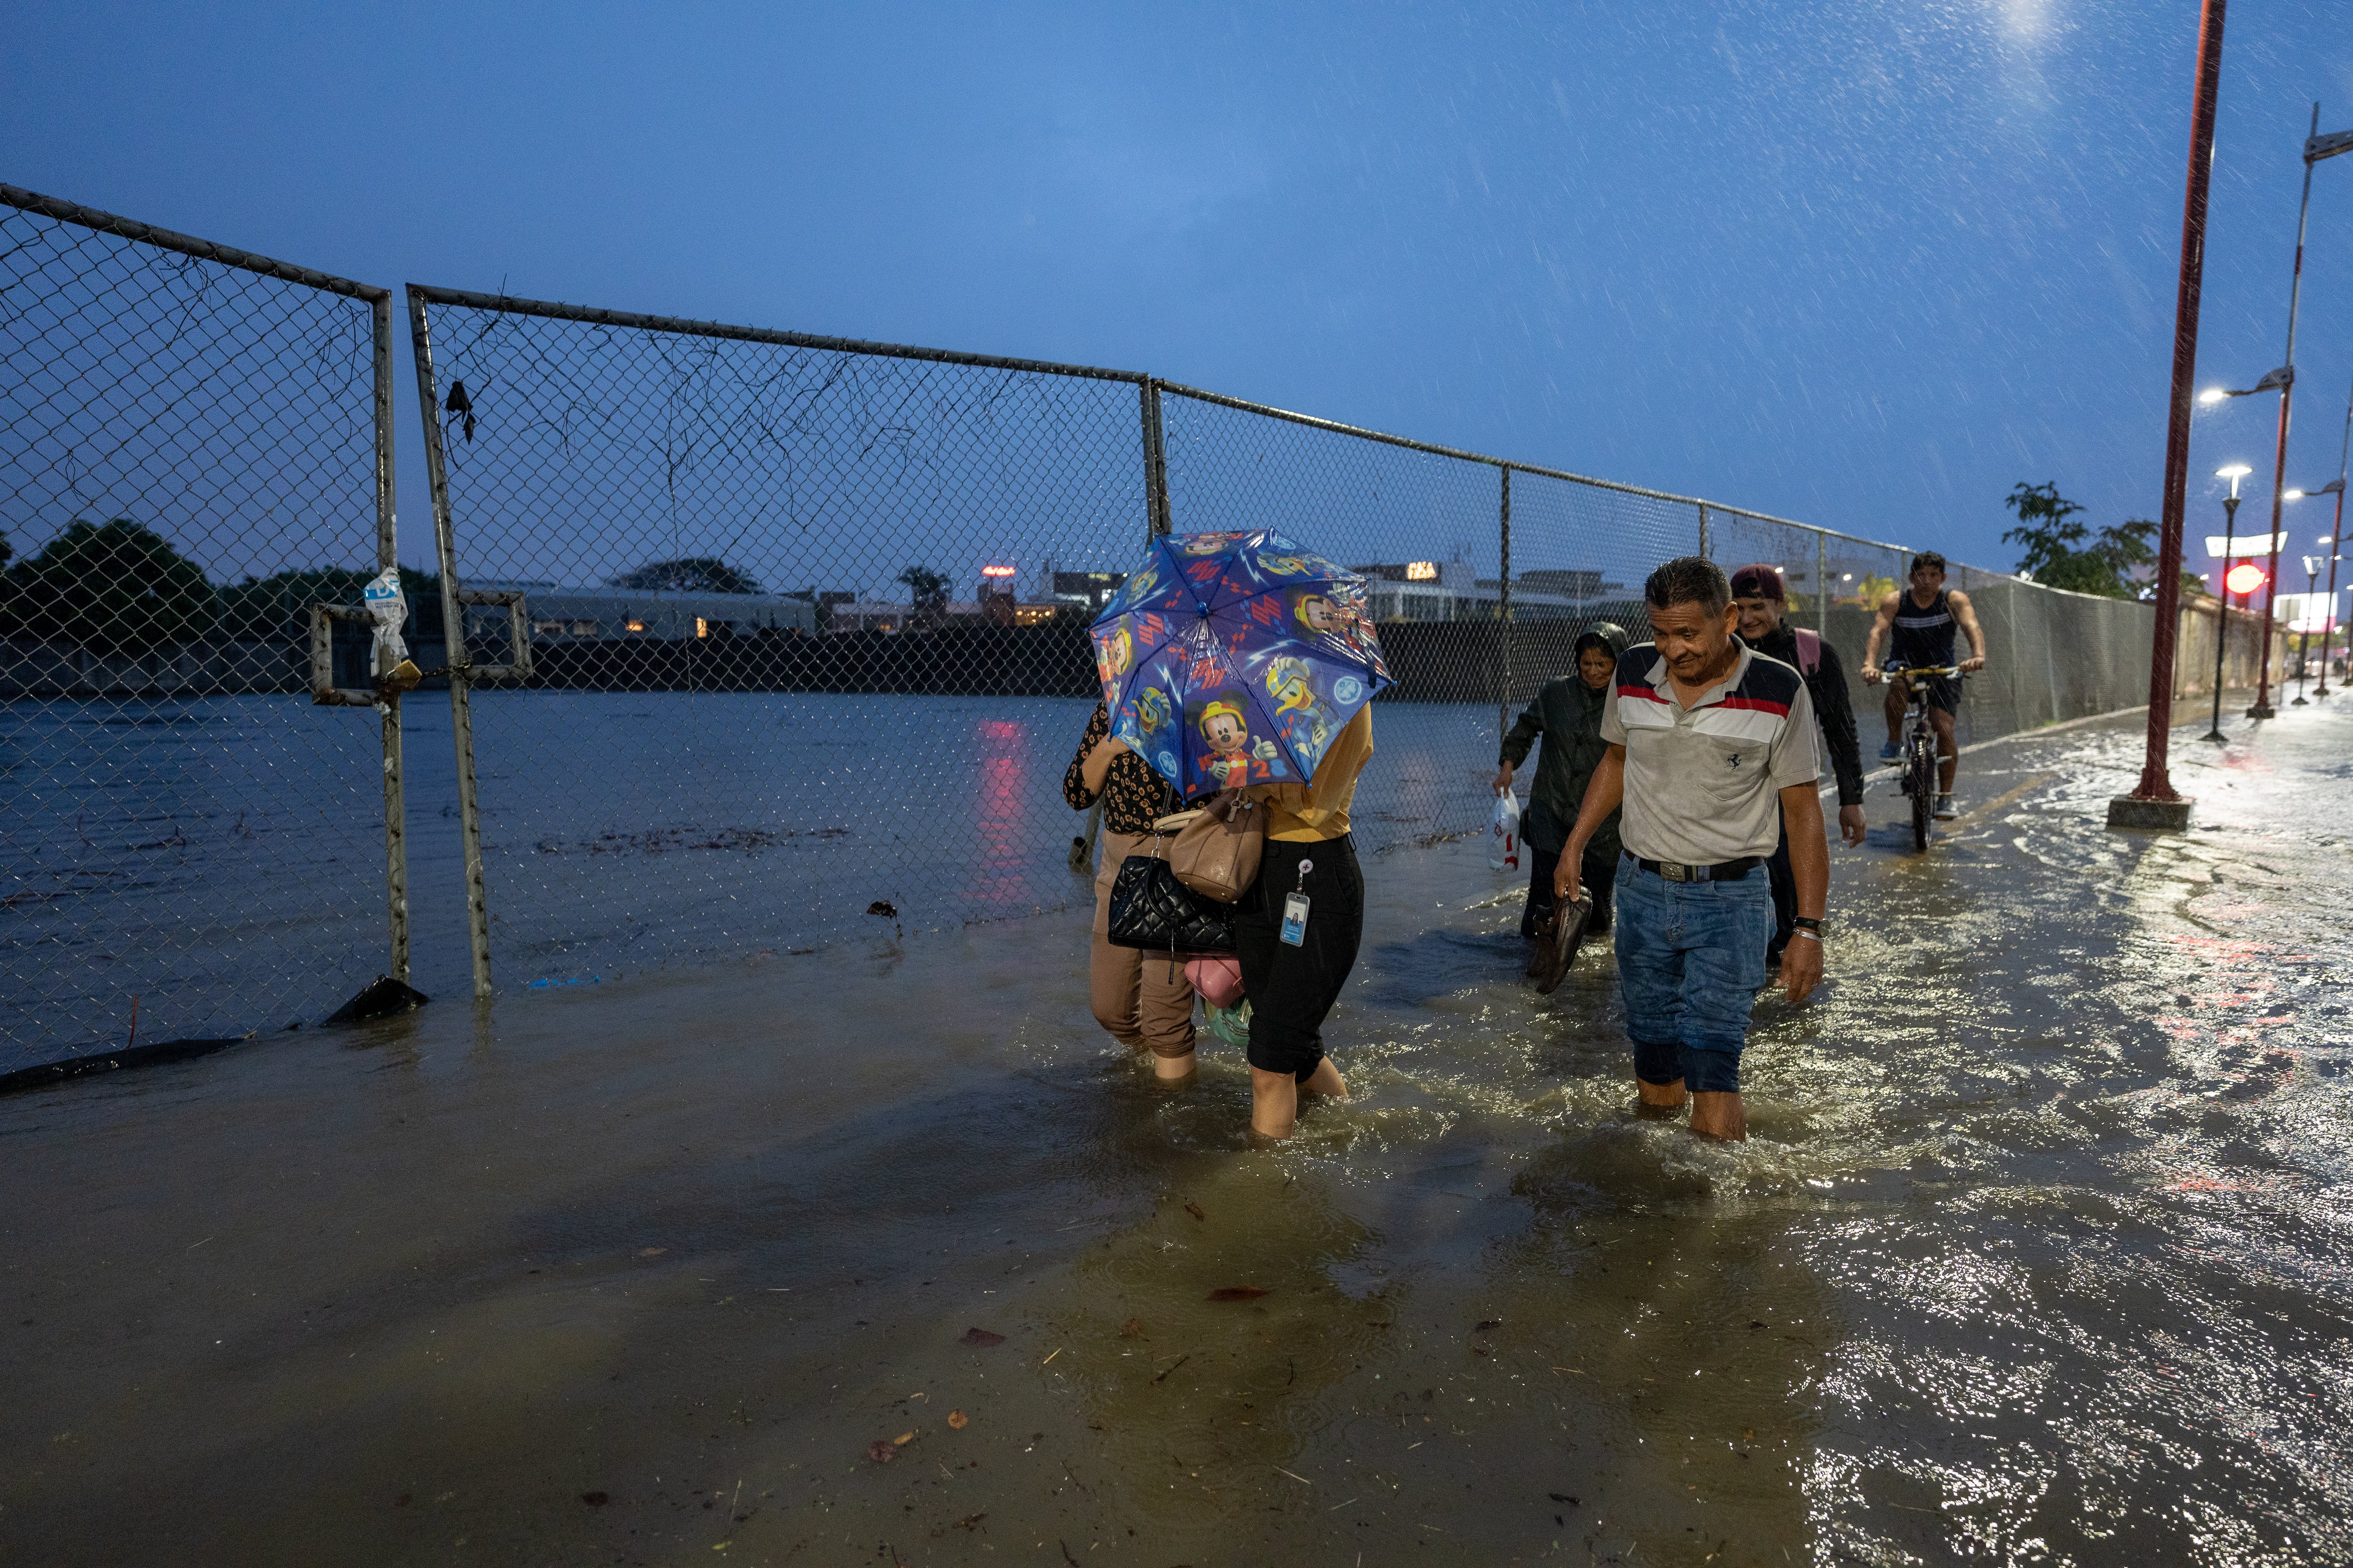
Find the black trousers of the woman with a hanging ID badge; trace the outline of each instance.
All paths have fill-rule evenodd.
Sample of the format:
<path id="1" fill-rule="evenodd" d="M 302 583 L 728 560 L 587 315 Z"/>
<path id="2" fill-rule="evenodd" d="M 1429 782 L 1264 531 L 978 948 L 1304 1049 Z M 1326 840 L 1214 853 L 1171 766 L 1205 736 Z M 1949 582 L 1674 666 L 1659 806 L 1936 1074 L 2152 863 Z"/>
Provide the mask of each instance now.
<path id="1" fill-rule="evenodd" d="M 1299 863 L 1306 860 L 1306 872 Z M 1308 896 L 1299 947 L 1282 940 L 1282 900 Z M 1266 839 L 1259 884 L 1233 910 L 1233 945 L 1249 997 L 1249 1065 L 1306 1084 L 1322 1063 L 1322 1020 L 1339 1001 L 1365 940 L 1365 872 L 1348 839 Z"/>

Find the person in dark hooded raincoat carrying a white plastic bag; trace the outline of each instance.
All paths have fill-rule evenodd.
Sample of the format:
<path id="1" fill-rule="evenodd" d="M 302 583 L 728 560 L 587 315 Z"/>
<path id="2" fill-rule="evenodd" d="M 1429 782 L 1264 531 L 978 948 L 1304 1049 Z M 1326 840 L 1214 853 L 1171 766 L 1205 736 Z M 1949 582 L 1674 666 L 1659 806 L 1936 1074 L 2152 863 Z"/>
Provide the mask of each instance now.
<path id="1" fill-rule="evenodd" d="M 1586 799 L 1586 783 L 1607 755 L 1602 743 L 1602 708 L 1609 703 L 1609 679 L 1617 672 L 1619 654 L 1626 651 L 1626 632 L 1602 621 L 1577 639 L 1577 672 L 1544 686 L 1527 705 L 1520 722 L 1504 736 L 1501 766 L 1494 776 L 1494 792 L 1511 788 L 1511 776 L 1527 762 L 1527 748 L 1544 736 L 1544 755 L 1537 757 L 1537 783 L 1527 792 L 1527 813 L 1520 818 L 1520 842 L 1527 844 L 1527 907 L 1520 912 L 1520 936 L 1537 936 L 1553 917 L 1553 867 L 1560 846 L 1569 842 L 1577 825 L 1577 809 Z M 1586 844 L 1579 865 L 1584 886 L 1593 893 L 1593 914 L 1586 933 L 1609 929 L 1609 889 L 1617 884 L 1619 837 L 1617 811 Z"/>

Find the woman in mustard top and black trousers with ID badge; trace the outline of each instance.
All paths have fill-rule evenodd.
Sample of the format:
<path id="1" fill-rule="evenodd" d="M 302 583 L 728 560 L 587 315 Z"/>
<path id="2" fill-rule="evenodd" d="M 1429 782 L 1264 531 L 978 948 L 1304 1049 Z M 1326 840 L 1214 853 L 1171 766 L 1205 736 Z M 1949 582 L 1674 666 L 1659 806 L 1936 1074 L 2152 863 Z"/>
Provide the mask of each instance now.
<path id="1" fill-rule="evenodd" d="M 1249 997 L 1249 1131 L 1289 1138 L 1299 1093 L 1348 1095 L 1322 1048 L 1322 1020 L 1339 1001 L 1365 938 L 1365 875 L 1348 839 L 1355 778 L 1372 759 L 1372 708 L 1360 708 L 1332 738 L 1306 785 L 1252 785 L 1266 804 L 1266 853 L 1259 882 L 1233 917 Z M 1306 919 L 1285 940 L 1292 896 Z"/>

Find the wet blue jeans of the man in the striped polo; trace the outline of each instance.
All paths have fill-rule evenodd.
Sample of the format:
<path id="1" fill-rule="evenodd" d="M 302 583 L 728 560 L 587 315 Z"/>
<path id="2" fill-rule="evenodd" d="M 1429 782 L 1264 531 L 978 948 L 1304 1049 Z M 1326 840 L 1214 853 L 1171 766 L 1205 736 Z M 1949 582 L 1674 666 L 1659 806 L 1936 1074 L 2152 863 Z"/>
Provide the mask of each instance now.
<path id="1" fill-rule="evenodd" d="M 1619 994 L 1633 1070 L 1645 1084 L 1682 1079 L 1694 1093 L 1739 1093 L 1748 1006 L 1765 985 L 1772 884 L 1668 882 L 1619 860 Z"/>

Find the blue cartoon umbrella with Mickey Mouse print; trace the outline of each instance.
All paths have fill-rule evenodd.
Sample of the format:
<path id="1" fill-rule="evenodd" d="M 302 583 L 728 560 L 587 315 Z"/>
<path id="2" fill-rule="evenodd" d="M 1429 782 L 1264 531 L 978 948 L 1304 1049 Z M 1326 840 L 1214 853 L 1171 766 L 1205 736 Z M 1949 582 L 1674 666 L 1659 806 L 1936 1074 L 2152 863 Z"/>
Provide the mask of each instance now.
<path id="1" fill-rule="evenodd" d="M 1186 797 L 1315 778 L 1391 684 L 1365 578 L 1273 529 L 1162 534 L 1089 635 L 1111 733 Z"/>

